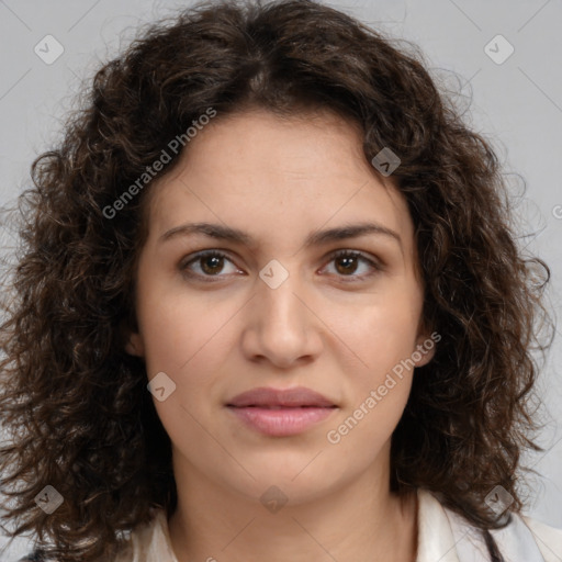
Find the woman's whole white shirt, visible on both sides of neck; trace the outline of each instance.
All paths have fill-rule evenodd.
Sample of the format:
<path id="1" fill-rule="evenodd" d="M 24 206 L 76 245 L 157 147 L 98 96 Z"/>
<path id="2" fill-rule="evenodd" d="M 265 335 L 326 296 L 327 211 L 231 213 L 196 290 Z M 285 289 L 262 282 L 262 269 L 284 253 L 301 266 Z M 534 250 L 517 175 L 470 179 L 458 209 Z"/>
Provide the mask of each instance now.
<path id="1" fill-rule="evenodd" d="M 418 490 L 417 521 L 416 562 L 490 561 L 480 531 L 425 490 Z M 562 562 L 562 529 L 514 515 L 507 527 L 491 533 L 506 562 Z M 128 548 L 116 562 L 179 562 L 164 510 L 131 533 Z"/>

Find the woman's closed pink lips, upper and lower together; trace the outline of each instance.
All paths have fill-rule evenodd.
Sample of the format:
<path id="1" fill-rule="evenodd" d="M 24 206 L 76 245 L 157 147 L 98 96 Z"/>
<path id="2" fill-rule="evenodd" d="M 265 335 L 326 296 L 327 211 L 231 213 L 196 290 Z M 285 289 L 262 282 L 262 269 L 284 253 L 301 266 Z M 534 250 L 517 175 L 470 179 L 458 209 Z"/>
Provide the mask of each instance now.
<path id="1" fill-rule="evenodd" d="M 304 386 L 252 389 L 235 396 L 226 407 L 247 426 L 276 437 L 302 434 L 338 408 L 322 394 Z"/>

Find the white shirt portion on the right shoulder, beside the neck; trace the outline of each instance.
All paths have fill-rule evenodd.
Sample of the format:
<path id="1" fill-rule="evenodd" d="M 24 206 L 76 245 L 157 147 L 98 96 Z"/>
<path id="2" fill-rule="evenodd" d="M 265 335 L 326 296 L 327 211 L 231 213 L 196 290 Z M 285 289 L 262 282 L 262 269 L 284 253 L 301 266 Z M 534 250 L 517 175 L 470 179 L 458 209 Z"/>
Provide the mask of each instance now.
<path id="1" fill-rule="evenodd" d="M 488 560 L 482 531 L 442 506 L 427 491 L 419 491 L 419 544 L 416 562 Z M 499 552 L 510 562 L 561 562 L 562 529 L 526 516 L 512 515 L 503 529 L 491 530 Z"/>

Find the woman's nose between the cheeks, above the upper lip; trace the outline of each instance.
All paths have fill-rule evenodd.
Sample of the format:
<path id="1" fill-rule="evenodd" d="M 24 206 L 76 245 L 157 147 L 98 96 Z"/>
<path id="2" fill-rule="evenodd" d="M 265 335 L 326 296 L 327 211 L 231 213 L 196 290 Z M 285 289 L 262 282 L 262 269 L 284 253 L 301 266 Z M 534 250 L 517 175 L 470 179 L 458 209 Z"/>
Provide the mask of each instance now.
<path id="1" fill-rule="evenodd" d="M 296 274 L 277 288 L 258 278 L 245 318 L 243 351 L 251 361 L 269 361 L 280 369 L 305 364 L 322 351 L 322 326 Z"/>

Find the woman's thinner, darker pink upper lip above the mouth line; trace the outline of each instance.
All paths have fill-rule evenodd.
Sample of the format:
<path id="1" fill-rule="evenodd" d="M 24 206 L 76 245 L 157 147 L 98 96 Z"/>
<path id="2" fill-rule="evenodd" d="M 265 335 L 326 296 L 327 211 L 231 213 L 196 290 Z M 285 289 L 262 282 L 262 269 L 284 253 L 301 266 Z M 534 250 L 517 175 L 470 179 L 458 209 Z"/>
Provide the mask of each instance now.
<path id="1" fill-rule="evenodd" d="M 260 386 L 238 394 L 232 398 L 227 406 L 316 406 L 331 407 L 335 404 L 318 392 L 304 386 L 294 389 L 272 389 Z"/>

